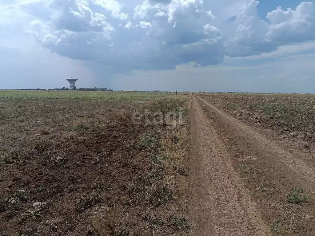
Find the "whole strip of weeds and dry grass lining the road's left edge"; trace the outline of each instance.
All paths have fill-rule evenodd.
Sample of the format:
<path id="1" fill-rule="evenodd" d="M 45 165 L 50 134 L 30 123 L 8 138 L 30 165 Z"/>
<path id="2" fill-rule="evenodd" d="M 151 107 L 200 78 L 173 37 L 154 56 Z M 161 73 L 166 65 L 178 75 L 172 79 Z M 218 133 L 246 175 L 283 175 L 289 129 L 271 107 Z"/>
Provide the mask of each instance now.
<path id="1" fill-rule="evenodd" d="M 176 179 L 180 175 L 187 175 L 183 166 L 183 158 L 187 150 L 189 122 L 189 101 L 187 99 L 158 99 L 147 107 L 152 114 L 161 112 L 163 117 L 170 110 L 174 111 L 177 123 L 174 123 L 174 126 L 167 126 L 163 122 L 163 124 L 152 126 L 152 131 L 141 135 L 139 141 L 135 143 L 136 146 L 148 152 L 151 160 L 146 173 L 139 173 L 130 183 L 126 184 L 128 192 L 132 196 L 130 204 L 163 207 L 175 201 L 178 196 Z M 179 117 L 183 119 L 180 124 Z M 154 119 L 154 115 L 148 119 Z M 145 220 L 150 222 L 149 226 L 157 233 L 168 234 L 171 231 L 177 232 L 190 227 L 189 221 L 184 216 L 165 215 L 163 217 L 167 216 L 168 219 L 165 222 L 166 218 L 161 218 L 161 214 L 157 212 L 152 211 L 145 217 Z M 158 221 L 158 223 L 152 223 L 152 221 Z M 167 230 L 169 227 L 172 229 L 171 231 Z"/>

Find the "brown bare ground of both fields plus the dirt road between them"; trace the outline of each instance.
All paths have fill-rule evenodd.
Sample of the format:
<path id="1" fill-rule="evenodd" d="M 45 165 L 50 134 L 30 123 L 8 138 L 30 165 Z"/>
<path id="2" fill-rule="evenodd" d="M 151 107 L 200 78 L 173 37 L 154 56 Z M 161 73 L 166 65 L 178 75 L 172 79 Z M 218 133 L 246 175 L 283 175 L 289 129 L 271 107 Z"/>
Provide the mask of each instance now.
<path id="1" fill-rule="evenodd" d="M 315 235 L 311 98 L 198 96 L 0 100 L 0 236 Z"/>

